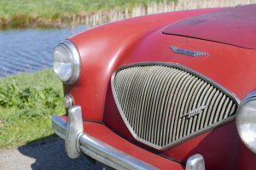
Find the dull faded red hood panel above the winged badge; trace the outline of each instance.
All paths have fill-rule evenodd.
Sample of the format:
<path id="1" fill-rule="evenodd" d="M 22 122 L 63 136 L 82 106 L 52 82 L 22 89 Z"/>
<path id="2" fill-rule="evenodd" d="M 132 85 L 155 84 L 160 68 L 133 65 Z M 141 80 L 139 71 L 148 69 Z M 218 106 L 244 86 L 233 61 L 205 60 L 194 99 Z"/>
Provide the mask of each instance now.
<path id="1" fill-rule="evenodd" d="M 164 34 L 193 37 L 241 48 L 256 48 L 256 4 L 224 8 L 179 20 Z"/>

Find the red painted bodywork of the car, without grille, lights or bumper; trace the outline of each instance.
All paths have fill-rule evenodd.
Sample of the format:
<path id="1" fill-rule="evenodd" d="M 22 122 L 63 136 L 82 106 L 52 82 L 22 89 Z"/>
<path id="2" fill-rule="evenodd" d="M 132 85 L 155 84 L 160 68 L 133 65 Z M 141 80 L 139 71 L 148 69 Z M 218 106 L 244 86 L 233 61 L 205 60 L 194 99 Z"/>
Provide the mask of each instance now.
<path id="1" fill-rule="evenodd" d="M 113 97 L 111 77 L 123 65 L 183 65 L 228 89 L 238 102 L 256 88 L 256 5 L 146 15 L 98 26 L 69 38 L 79 50 L 79 82 L 64 84 L 80 105 L 84 133 L 160 169 L 184 169 L 201 154 L 206 169 L 255 169 L 256 155 L 241 142 L 233 119 L 164 150 L 131 134 Z M 174 53 L 170 46 L 207 55 Z M 61 119 L 67 121 L 67 116 Z"/>

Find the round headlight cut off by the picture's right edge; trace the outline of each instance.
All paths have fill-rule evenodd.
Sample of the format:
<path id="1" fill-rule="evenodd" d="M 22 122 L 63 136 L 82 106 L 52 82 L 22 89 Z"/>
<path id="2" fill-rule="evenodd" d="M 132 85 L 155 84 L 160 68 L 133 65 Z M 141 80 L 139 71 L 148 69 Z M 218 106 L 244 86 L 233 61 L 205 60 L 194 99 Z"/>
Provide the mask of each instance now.
<path id="1" fill-rule="evenodd" d="M 256 92 L 243 99 L 237 111 L 236 127 L 243 143 L 256 153 Z"/>

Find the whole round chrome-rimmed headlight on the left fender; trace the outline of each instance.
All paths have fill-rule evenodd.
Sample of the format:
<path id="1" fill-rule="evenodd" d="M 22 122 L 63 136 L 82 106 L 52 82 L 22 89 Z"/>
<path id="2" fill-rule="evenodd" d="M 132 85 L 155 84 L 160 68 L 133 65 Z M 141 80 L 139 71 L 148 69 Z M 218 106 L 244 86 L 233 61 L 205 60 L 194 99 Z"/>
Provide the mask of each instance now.
<path id="1" fill-rule="evenodd" d="M 73 42 L 65 40 L 55 47 L 53 67 L 62 82 L 72 84 L 79 80 L 80 56 Z"/>

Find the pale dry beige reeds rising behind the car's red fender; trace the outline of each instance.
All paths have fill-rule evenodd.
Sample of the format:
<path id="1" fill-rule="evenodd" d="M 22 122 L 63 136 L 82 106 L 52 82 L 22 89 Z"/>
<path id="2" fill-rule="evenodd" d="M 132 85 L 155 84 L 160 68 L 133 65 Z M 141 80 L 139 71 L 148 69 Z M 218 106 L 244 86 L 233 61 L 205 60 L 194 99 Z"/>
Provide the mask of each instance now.
<path id="1" fill-rule="evenodd" d="M 81 13 L 73 15 L 72 18 L 64 17 L 60 20 L 71 20 L 73 26 L 84 24 L 86 26 L 97 26 L 102 23 L 123 20 L 130 17 L 141 16 L 145 14 L 157 14 L 170 11 L 187 10 L 195 8 L 216 8 L 216 7 L 235 7 L 237 5 L 256 3 L 256 0 L 178 0 L 177 3 L 148 3 L 146 6 L 137 6 L 135 8 L 124 8 L 119 10 L 105 10 L 96 13 Z M 61 25 L 60 23 L 60 25 Z"/>

